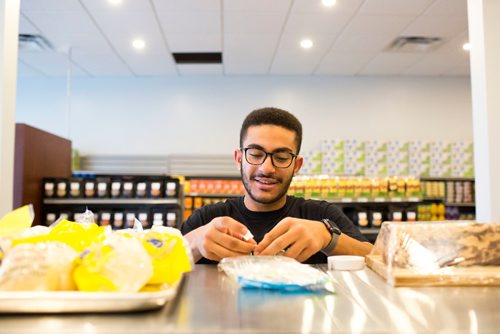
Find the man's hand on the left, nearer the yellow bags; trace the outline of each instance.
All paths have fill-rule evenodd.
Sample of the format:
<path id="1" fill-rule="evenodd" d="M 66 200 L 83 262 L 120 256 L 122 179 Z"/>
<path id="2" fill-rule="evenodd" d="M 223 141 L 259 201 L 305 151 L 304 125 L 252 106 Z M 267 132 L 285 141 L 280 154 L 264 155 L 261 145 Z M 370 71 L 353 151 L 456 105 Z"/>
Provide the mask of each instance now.
<path id="1" fill-rule="evenodd" d="M 217 217 L 210 223 L 186 234 L 195 262 L 202 256 L 215 261 L 225 257 L 249 255 L 254 239 L 246 241 L 248 228 L 231 217 Z"/>

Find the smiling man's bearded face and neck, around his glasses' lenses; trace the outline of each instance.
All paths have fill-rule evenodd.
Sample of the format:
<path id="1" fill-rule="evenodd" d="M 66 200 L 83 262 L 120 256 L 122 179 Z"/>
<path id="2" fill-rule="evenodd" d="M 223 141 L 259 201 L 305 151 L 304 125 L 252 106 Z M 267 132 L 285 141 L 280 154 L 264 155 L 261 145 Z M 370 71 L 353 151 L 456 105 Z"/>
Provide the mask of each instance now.
<path id="1" fill-rule="evenodd" d="M 275 125 L 259 125 L 248 128 L 243 148 L 258 148 L 265 152 L 297 153 L 295 132 Z M 271 156 L 261 165 L 252 165 L 245 159 L 244 152 L 235 151 L 236 162 L 241 168 L 245 187 L 245 205 L 253 211 L 272 211 L 286 202 L 286 193 L 294 174 L 302 165 L 302 158 L 294 158 L 288 168 L 277 168 Z"/>

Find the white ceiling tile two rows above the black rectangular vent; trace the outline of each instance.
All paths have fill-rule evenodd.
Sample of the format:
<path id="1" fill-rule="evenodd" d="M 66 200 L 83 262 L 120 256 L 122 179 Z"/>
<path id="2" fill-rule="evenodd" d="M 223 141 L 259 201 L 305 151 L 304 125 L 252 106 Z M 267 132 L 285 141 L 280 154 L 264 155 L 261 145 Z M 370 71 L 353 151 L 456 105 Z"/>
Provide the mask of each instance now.
<path id="1" fill-rule="evenodd" d="M 216 11 L 158 12 L 158 17 L 166 35 L 220 34 L 221 31 L 221 14 Z"/>

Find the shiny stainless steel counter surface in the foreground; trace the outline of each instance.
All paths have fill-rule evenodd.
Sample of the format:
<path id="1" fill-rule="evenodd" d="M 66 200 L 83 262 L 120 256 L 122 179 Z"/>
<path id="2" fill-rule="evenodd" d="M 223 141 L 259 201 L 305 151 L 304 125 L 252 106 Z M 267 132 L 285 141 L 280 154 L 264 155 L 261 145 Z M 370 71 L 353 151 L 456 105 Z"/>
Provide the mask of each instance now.
<path id="1" fill-rule="evenodd" d="M 243 290 L 197 265 L 161 310 L 127 314 L 0 315 L 0 333 L 493 333 L 500 288 L 394 288 L 369 269 L 331 272 L 335 294 Z"/>

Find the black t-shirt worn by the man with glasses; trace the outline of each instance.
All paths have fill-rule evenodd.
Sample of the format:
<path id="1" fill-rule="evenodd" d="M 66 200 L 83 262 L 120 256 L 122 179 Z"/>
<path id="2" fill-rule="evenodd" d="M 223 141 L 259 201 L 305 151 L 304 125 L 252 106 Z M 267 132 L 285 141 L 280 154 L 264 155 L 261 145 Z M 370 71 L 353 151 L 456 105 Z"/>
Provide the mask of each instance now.
<path id="1" fill-rule="evenodd" d="M 228 199 L 212 205 L 206 205 L 193 212 L 191 217 L 181 226 L 182 234 L 210 223 L 212 219 L 229 216 L 245 225 L 252 232 L 254 239 L 259 243 L 264 235 L 285 217 L 294 217 L 320 221 L 328 218 L 337 224 L 342 233 L 360 240 L 367 241 L 361 232 L 334 204 L 326 201 L 306 200 L 299 197 L 287 196 L 286 204 L 276 211 L 250 211 L 243 203 L 243 197 Z M 326 255 L 318 252 L 312 255 L 305 263 L 326 263 Z M 198 263 L 215 263 L 202 258 Z"/>

